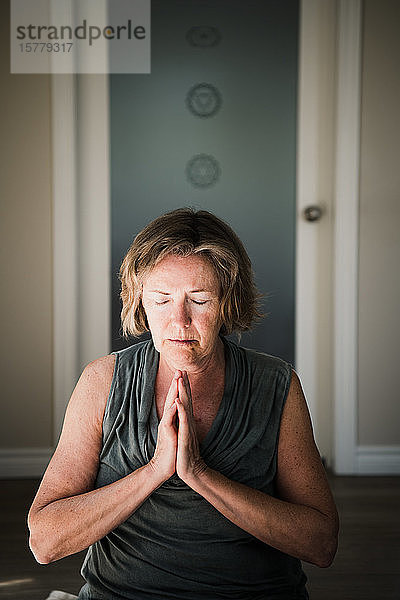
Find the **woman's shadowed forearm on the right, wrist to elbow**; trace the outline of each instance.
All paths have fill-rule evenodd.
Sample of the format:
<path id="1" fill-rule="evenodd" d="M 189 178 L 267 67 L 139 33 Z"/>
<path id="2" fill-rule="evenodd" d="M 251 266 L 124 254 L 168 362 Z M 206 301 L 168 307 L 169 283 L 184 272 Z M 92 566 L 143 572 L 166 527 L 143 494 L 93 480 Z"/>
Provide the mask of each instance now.
<path id="1" fill-rule="evenodd" d="M 210 468 L 187 483 L 227 519 L 262 542 L 321 567 L 332 562 L 336 524 L 317 509 L 284 502 Z"/>

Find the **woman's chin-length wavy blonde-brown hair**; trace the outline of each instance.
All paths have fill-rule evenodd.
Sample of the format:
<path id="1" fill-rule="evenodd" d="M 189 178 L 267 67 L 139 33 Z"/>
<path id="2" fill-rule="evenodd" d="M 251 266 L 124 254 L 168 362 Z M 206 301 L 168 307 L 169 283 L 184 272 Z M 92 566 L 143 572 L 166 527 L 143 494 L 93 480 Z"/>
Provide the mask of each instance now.
<path id="1" fill-rule="evenodd" d="M 220 282 L 221 335 L 246 331 L 263 315 L 248 254 L 231 227 L 206 210 L 178 208 L 149 223 L 133 240 L 119 271 L 124 337 L 149 331 L 142 304 L 143 281 L 168 254 L 199 254 Z"/>

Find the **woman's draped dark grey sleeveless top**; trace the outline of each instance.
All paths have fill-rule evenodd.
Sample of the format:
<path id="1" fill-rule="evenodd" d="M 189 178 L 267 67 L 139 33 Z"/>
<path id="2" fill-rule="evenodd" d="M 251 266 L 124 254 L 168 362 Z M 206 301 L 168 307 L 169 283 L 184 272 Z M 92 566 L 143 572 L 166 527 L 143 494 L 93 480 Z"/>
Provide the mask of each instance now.
<path id="1" fill-rule="evenodd" d="M 291 367 L 222 340 L 225 389 L 201 455 L 226 477 L 274 495 Z M 96 487 L 148 463 L 157 440 L 159 354 L 151 340 L 114 354 Z M 81 600 L 308 598 L 298 559 L 234 525 L 176 474 L 89 548 L 82 575 Z"/>

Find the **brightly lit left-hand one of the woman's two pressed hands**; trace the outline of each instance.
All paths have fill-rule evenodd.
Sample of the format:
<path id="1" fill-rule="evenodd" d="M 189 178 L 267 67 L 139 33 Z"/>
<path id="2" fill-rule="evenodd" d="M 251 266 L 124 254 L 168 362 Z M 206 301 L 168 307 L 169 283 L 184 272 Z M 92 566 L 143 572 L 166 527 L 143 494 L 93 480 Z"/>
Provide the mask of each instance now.
<path id="1" fill-rule="evenodd" d="M 178 440 L 175 416 L 179 377 L 181 377 L 181 371 L 176 371 L 165 399 L 163 415 L 158 425 L 157 445 L 150 461 L 150 465 L 160 475 L 162 482 L 169 479 L 176 469 Z"/>

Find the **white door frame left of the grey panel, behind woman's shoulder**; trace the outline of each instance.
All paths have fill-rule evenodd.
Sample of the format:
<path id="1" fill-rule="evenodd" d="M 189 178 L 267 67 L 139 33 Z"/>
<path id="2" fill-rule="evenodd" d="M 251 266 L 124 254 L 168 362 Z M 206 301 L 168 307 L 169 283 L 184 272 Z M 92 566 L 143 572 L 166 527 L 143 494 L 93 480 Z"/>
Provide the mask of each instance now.
<path id="1" fill-rule="evenodd" d="M 106 75 L 53 75 L 53 442 L 86 364 L 110 352 Z"/>

